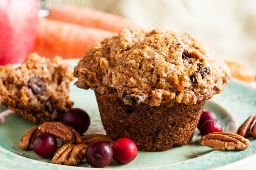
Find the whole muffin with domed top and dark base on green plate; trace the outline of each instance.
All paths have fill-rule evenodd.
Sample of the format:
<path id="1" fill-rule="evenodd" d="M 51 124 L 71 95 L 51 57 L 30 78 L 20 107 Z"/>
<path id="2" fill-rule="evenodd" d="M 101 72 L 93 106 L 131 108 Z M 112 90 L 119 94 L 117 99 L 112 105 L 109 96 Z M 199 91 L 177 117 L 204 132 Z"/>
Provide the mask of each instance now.
<path id="1" fill-rule="evenodd" d="M 95 91 L 107 135 L 160 151 L 192 139 L 205 101 L 229 82 L 230 69 L 189 34 L 124 29 L 95 43 L 74 76 L 77 87 Z"/>

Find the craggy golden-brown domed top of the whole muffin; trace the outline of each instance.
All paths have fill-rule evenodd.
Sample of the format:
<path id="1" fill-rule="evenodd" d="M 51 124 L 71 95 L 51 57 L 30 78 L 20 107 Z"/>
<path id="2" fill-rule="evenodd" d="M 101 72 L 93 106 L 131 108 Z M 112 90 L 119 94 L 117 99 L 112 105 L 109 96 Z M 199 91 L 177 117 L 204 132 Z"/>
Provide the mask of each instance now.
<path id="1" fill-rule="evenodd" d="M 126 105 L 195 104 L 212 98 L 230 69 L 209 46 L 189 34 L 124 29 L 97 42 L 74 70 L 77 87 Z"/>

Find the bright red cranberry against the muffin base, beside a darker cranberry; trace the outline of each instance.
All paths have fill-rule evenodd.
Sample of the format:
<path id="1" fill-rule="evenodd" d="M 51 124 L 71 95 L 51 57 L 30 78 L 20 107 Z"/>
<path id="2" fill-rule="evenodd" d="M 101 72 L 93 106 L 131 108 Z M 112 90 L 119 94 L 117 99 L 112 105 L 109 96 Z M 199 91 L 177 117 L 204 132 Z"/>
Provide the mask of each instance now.
<path id="1" fill-rule="evenodd" d="M 133 161 L 138 153 L 136 144 L 128 138 L 117 140 L 112 148 L 113 159 L 121 164 L 127 164 Z"/>

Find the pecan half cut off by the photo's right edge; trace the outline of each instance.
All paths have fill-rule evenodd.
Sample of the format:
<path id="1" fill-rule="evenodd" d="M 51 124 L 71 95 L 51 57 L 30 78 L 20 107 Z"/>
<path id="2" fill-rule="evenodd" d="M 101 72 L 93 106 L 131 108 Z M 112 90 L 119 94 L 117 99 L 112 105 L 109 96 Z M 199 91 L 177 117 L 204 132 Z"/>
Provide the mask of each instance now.
<path id="1" fill-rule="evenodd" d="M 245 137 L 247 135 L 252 135 L 256 138 L 256 116 L 249 116 L 248 119 L 238 128 L 237 134 Z"/>

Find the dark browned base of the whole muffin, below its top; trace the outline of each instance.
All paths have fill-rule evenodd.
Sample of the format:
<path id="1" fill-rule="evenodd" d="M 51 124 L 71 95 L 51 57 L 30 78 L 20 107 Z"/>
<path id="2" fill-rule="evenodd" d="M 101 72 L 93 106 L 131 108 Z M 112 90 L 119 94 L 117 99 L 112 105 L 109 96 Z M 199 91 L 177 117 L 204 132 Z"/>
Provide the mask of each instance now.
<path id="1" fill-rule="evenodd" d="M 144 151 L 163 151 L 187 144 L 205 104 L 201 101 L 195 105 L 123 105 L 122 99 L 111 101 L 95 94 L 107 135 L 114 140 L 129 138 Z"/>

